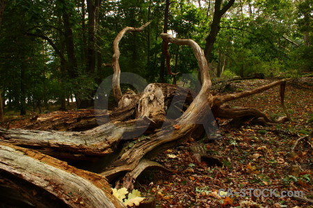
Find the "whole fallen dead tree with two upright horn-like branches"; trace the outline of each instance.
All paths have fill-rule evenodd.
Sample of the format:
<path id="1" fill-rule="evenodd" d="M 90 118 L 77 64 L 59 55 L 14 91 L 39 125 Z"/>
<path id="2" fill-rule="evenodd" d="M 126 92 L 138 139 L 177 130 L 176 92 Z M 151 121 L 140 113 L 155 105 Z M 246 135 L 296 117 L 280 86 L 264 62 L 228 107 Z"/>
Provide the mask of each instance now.
<path id="1" fill-rule="evenodd" d="M 3 153 L 1 153 L 2 161 L 0 163 L 0 169 L 4 170 L 7 175 L 15 175 L 16 177 L 24 174 L 23 171 L 19 170 L 17 164 L 10 164 L 10 159 L 7 155 L 17 154 L 14 153 L 14 148 L 22 152 L 29 151 L 29 153 L 33 155 L 20 154 L 12 156 L 18 157 L 21 161 L 28 159 L 29 157 L 36 157 L 36 159 L 47 157 L 53 160 L 53 158 L 45 155 L 51 155 L 53 157 L 67 160 L 91 160 L 97 157 L 102 157 L 105 159 L 99 159 L 94 164 L 95 166 L 101 166 L 101 168 L 97 170 L 97 173 L 102 176 L 93 175 L 93 173 L 87 171 L 82 171 L 80 174 L 79 171 L 77 171 L 77 173 L 79 173 L 77 178 L 71 178 L 69 180 L 84 182 L 83 179 L 79 179 L 79 177 L 86 178 L 82 176 L 84 173 L 87 175 L 93 175 L 93 177 L 101 178 L 104 176 L 111 182 L 114 182 L 114 180 L 117 179 L 122 179 L 124 187 L 132 188 L 134 180 L 136 180 L 136 177 L 141 171 L 149 166 L 160 166 L 156 162 L 150 160 L 152 157 L 161 153 L 162 150 L 170 148 L 171 146 L 176 146 L 184 141 L 184 139 L 191 137 L 192 133 L 197 130 L 200 125 L 208 125 L 207 120 L 209 118 L 241 119 L 248 116 L 256 119 L 261 118 L 265 122 L 282 122 L 289 120 L 289 114 L 284 105 L 285 80 L 264 85 L 247 92 L 226 94 L 223 96 L 214 95 L 210 91 L 211 79 L 209 76 L 209 66 L 200 46 L 193 40 L 177 39 L 166 33 L 161 34 L 161 38 L 166 42 L 190 46 L 191 49 L 193 49 L 193 53 L 198 60 L 201 75 L 202 87 L 200 92 L 195 95 L 193 92 L 190 92 L 190 90 L 175 85 L 153 83 L 147 85 L 141 94 L 123 95 L 120 90 L 119 81 L 120 66 L 118 64 L 118 58 L 120 51 L 118 50 L 118 44 L 127 31 L 142 31 L 145 26 L 147 26 L 147 24 L 141 28 L 127 27 L 118 34 L 114 41 L 113 46 L 115 53 L 112 62 L 114 69 L 113 95 L 118 101 L 118 108 L 113 110 L 113 112 L 105 112 L 103 114 L 103 116 L 106 116 L 106 119 L 103 120 L 104 124 L 84 132 L 22 129 L 6 130 L 1 128 L 0 141 L 2 142 L 2 146 L 0 150 L 3 150 Z M 239 98 L 264 92 L 267 89 L 278 85 L 280 85 L 281 104 L 284 112 L 287 114 L 287 116 L 284 119 L 280 119 L 280 121 L 271 121 L 271 119 L 268 119 L 264 113 L 254 108 L 232 109 L 227 105 L 223 105 L 228 101 L 234 101 Z M 188 107 L 184 110 L 180 109 L 180 114 L 177 118 L 170 119 L 166 116 L 166 109 L 170 107 L 171 102 L 174 102 L 173 100 L 175 100 L 175 102 L 182 102 Z M 113 115 L 119 116 L 115 116 L 114 119 Z M 118 146 L 125 143 L 127 139 L 138 138 L 140 136 L 138 133 L 144 133 L 147 137 L 138 141 L 138 143 L 126 150 L 125 148 L 118 148 Z M 34 148 L 37 152 L 17 146 Z M 42 153 L 45 155 L 42 155 Z M 29 160 L 29 165 L 33 165 L 33 163 L 33 160 Z M 53 171 L 49 172 L 43 170 L 45 172 L 42 172 L 42 177 L 47 177 L 45 175 L 48 174 L 48 172 L 56 173 L 54 171 L 61 171 L 64 169 L 66 169 L 65 172 L 69 172 L 68 170 L 70 168 L 72 167 L 65 167 L 63 162 L 58 161 L 54 163 Z M 76 174 L 76 169 L 72 170 L 75 170 L 74 173 Z M 54 190 L 54 186 L 58 186 L 58 189 L 60 190 L 67 190 L 67 188 L 73 190 L 78 189 L 77 187 L 62 187 L 62 182 L 56 178 L 59 177 L 57 174 L 49 175 L 50 180 L 41 185 L 35 183 L 33 178 L 37 177 L 37 173 L 30 172 L 28 174 L 29 177 L 19 177 L 19 180 L 25 180 L 33 186 L 40 187 L 41 189 L 46 187 L 46 190 Z M 93 177 L 91 180 L 93 180 Z M 42 181 L 42 183 L 44 183 L 44 181 Z M 16 184 L 14 179 L 13 183 Z M 49 192 L 49 190 L 47 191 Z M 52 192 L 50 191 L 50 193 Z M 64 191 L 62 193 L 64 193 Z M 52 194 L 56 198 L 60 198 L 61 201 L 65 202 L 61 193 Z M 95 194 L 93 197 L 96 197 L 98 193 L 95 190 L 95 192 L 89 192 L 89 194 Z M 108 194 L 106 195 L 106 199 L 115 203 L 115 200 L 109 198 Z M 87 203 L 86 201 L 83 202 Z"/>

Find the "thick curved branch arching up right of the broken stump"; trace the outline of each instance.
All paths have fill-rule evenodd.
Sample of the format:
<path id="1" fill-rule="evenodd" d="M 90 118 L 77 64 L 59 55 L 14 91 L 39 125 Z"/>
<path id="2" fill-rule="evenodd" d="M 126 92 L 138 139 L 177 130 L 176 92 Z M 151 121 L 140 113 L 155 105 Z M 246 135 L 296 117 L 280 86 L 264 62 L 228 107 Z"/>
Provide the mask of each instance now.
<path id="1" fill-rule="evenodd" d="M 170 141 L 177 141 L 188 135 L 197 128 L 197 124 L 204 119 L 207 119 L 207 115 L 210 113 L 209 107 L 211 107 L 213 96 L 209 92 L 211 87 L 211 80 L 209 76 L 209 66 L 207 60 L 204 57 L 204 52 L 200 46 L 190 39 L 177 39 L 170 34 L 162 33 L 161 37 L 167 42 L 171 42 L 178 45 L 191 46 L 195 57 L 198 60 L 200 68 L 200 75 L 202 80 L 202 87 L 199 94 L 195 97 L 191 105 L 187 110 L 176 120 L 179 129 L 174 129 L 170 125 L 162 128 L 161 131 L 154 134 L 151 139 L 146 142 L 140 142 L 135 144 L 130 150 L 122 155 L 122 157 L 116 160 L 111 168 L 108 168 L 102 173 L 104 176 L 115 175 L 122 171 L 132 171 L 141 159 L 154 148 L 166 144 Z"/>

